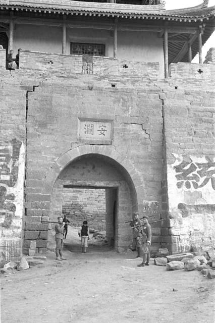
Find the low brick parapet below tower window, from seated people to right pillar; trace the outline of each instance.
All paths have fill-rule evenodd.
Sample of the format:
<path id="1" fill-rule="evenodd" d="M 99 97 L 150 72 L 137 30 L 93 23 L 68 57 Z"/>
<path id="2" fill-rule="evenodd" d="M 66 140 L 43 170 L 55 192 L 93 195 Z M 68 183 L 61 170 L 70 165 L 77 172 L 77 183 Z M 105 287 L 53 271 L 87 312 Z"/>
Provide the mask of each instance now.
<path id="1" fill-rule="evenodd" d="M 107 57 L 91 57 L 92 63 L 83 64 L 81 55 L 59 55 L 53 53 L 20 51 L 20 70 L 29 75 L 37 75 L 44 78 L 65 77 L 71 74 L 95 74 L 123 77 L 158 78 L 159 63 L 120 61 Z M 91 61 L 91 60 L 90 60 Z"/>

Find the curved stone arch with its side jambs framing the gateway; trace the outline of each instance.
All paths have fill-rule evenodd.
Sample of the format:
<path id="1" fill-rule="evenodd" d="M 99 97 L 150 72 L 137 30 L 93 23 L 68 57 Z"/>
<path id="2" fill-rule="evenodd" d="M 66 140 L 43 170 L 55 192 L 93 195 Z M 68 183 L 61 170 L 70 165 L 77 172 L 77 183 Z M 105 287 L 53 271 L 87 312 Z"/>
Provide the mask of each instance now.
<path id="1" fill-rule="evenodd" d="M 94 174 L 94 178 L 81 176 L 80 172 L 74 174 L 72 169 L 74 165 L 81 165 L 83 160 L 93 160 L 94 164 L 97 160 L 102 160 L 102 165 L 108 168 L 109 176 L 104 176 L 105 172 L 99 177 Z M 66 176 L 65 174 L 72 174 Z M 76 176 L 77 175 L 77 176 Z M 92 174 L 91 174 L 92 175 Z M 97 176 L 97 177 L 96 177 Z M 61 194 L 59 192 L 64 185 L 79 186 L 79 187 L 100 187 L 106 191 L 109 206 L 106 213 L 113 211 L 113 205 L 116 203 L 116 198 L 111 199 L 113 189 L 118 192 L 116 227 L 110 230 L 115 232 L 115 249 L 122 252 L 131 242 L 131 230 L 125 221 L 129 221 L 132 217 L 132 212 L 140 209 L 142 183 L 135 171 L 133 165 L 127 159 L 122 159 L 120 154 L 110 146 L 95 146 L 84 145 L 75 149 L 71 149 L 63 154 L 56 162 L 56 165 L 46 175 L 44 183 L 44 194 L 50 194 L 50 209 L 49 218 L 56 219 L 62 212 Z M 108 189 L 108 190 L 107 190 Z M 56 194 L 58 190 L 58 194 Z M 53 198 L 58 196 L 58 198 Z M 110 202 L 111 201 L 111 202 Z M 110 217 L 106 218 L 106 223 L 110 222 Z"/>

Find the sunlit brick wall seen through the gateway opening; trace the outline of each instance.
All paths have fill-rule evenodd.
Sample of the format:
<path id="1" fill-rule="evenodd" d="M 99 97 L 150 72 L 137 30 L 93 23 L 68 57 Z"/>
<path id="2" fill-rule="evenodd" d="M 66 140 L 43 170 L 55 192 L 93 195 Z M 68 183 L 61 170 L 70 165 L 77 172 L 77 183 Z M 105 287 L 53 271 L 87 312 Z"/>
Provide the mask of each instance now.
<path id="1" fill-rule="evenodd" d="M 91 228 L 106 230 L 105 190 L 64 188 L 62 212 L 74 226 L 86 220 Z"/>

